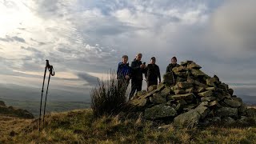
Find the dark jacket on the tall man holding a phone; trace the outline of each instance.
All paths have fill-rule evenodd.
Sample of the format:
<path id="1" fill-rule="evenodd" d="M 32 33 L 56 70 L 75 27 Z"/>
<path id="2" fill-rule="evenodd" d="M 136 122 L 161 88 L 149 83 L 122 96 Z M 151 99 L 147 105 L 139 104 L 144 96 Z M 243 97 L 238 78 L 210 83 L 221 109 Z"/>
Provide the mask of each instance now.
<path id="1" fill-rule="evenodd" d="M 143 80 L 142 74 L 145 73 L 145 69 L 140 68 L 141 65 L 142 65 L 142 62 L 136 59 L 134 59 L 134 61 L 131 62 L 131 66 L 130 66 L 132 70 L 131 79 Z"/>

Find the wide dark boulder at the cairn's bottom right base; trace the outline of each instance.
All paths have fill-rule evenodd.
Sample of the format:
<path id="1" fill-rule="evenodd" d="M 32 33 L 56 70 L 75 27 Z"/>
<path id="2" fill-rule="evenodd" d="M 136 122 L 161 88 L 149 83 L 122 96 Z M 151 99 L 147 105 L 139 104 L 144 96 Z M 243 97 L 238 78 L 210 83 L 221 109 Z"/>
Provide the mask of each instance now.
<path id="1" fill-rule="evenodd" d="M 221 118 L 226 118 L 226 117 L 238 117 L 238 109 L 237 108 L 231 108 L 231 107 L 222 107 L 218 110 L 216 110 L 216 116 L 221 117 Z"/>

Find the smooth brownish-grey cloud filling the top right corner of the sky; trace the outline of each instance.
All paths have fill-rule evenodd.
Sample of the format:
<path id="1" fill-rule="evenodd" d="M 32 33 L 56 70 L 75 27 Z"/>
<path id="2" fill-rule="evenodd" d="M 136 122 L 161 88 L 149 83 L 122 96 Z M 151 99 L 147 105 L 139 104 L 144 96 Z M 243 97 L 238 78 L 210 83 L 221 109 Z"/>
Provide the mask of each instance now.
<path id="1" fill-rule="evenodd" d="M 256 50 L 256 1 L 227 1 L 211 19 L 215 42 L 234 51 Z"/>

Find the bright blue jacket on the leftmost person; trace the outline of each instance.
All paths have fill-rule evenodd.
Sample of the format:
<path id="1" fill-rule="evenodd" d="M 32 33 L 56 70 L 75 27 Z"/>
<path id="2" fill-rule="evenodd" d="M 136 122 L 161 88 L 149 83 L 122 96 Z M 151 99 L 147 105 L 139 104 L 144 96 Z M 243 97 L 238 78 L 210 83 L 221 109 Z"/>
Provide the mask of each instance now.
<path id="1" fill-rule="evenodd" d="M 119 62 L 118 63 L 118 71 L 117 71 L 117 77 L 118 79 L 125 79 L 126 75 L 130 76 L 131 70 L 130 70 L 130 66 L 129 63 L 122 63 Z"/>

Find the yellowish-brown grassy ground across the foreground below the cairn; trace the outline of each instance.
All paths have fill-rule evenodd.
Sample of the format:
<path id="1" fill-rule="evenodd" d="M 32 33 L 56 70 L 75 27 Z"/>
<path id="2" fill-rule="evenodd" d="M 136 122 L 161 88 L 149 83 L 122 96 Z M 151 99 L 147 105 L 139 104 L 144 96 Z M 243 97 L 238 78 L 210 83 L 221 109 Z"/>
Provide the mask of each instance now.
<path id="1" fill-rule="evenodd" d="M 256 143 L 256 126 L 178 130 L 171 125 L 159 127 L 140 117 L 94 118 L 89 109 L 50 114 L 46 125 L 38 133 L 37 120 L 3 118 L 0 143 Z M 11 130 L 17 133 L 14 137 L 10 136 Z"/>

